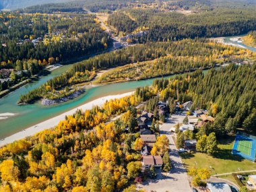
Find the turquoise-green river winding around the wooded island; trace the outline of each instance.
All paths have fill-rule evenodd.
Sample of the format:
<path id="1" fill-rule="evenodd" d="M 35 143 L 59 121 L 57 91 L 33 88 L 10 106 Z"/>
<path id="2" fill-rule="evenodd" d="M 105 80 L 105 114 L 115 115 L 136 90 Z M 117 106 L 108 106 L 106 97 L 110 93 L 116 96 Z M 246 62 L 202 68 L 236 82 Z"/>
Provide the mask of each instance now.
<path id="1" fill-rule="evenodd" d="M 232 42 L 233 44 L 240 44 L 245 46 L 247 49 L 251 51 L 256 51 L 255 48 L 246 46 L 243 43 L 233 42 L 230 40 L 231 37 L 227 37 L 224 39 L 224 42 Z M 232 37 L 234 38 L 234 37 Z M 47 76 L 43 76 L 37 82 L 33 82 L 31 84 L 27 84 L 14 92 L 11 92 L 7 96 L 4 96 L 0 99 L 0 114 L 3 113 L 13 113 L 15 115 L 9 116 L 7 119 L 0 120 L 0 139 L 3 139 L 13 133 L 17 133 L 18 131 L 22 131 L 22 129 L 26 129 L 27 127 L 31 127 L 37 123 L 45 121 L 51 117 L 55 117 L 64 113 L 72 108 L 85 104 L 86 102 L 90 102 L 96 98 L 100 98 L 102 96 L 108 96 L 113 94 L 122 94 L 125 92 L 131 92 L 135 90 L 137 87 L 141 86 L 150 86 L 154 79 L 141 80 L 137 82 L 123 82 L 118 84 L 109 84 L 104 86 L 96 86 L 89 87 L 86 89 L 86 94 L 82 94 L 78 98 L 70 100 L 69 102 L 65 102 L 62 104 L 57 104 L 55 106 L 42 106 L 39 103 L 18 106 L 17 102 L 21 94 L 24 94 L 38 86 L 44 84 L 49 79 L 60 75 L 64 71 L 67 71 L 71 65 L 64 65 L 58 69 L 55 69 L 51 72 L 51 74 Z M 168 78 L 170 76 L 166 76 Z"/>

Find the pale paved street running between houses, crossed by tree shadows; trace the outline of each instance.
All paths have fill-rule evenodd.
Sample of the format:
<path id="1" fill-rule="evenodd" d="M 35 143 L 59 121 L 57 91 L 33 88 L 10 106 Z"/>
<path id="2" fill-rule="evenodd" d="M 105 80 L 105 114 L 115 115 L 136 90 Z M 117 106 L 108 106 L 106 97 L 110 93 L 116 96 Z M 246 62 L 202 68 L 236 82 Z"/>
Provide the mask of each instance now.
<path id="1" fill-rule="evenodd" d="M 173 115 L 172 119 L 169 119 L 160 127 L 160 134 L 164 134 L 169 139 L 170 159 L 172 160 L 172 168 L 170 173 L 166 177 L 158 173 L 158 177 L 154 180 L 148 180 L 141 185 L 137 185 L 137 189 L 146 189 L 146 191 L 157 192 L 190 192 L 192 191 L 189 186 L 189 180 L 187 172 L 183 166 L 181 158 L 177 152 L 177 148 L 174 145 L 174 141 L 170 135 L 170 128 L 178 122 L 182 122 L 184 116 Z M 177 180 L 177 181 L 175 181 Z"/>

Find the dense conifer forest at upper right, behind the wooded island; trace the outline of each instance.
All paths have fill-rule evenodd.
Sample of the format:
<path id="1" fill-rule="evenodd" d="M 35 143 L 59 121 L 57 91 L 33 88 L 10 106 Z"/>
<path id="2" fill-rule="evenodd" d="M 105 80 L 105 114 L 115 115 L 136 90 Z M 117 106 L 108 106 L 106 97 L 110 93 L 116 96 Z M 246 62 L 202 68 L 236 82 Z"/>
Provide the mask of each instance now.
<path id="1" fill-rule="evenodd" d="M 167 41 L 246 34 L 256 28 L 255 14 L 255 9 L 222 8 L 189 15 L 159 9 L 125 9 L 109 15 L 108 23 L 126 34 L 135 28 L 148 28 L 139 42 Z"/>

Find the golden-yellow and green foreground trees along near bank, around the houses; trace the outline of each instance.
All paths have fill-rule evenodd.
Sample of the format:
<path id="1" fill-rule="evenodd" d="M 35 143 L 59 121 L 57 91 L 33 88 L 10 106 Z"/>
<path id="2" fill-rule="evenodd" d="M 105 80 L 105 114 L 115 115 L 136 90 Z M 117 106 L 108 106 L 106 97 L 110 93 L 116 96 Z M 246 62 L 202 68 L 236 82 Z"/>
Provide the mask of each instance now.
<path id="1" fill-rule="evenodd" d="M 196 139 L 209 135 L 216 143 L 216 138 L 236 128 L 255 131 L 255 71 L 255 64 L 230 65 L 206 74 L 197 70 L 158 79 L 151 87 L 137 88 L 134 95 L 110 100 L 102 108 L 78 110 L 54 129 L 0 148 L 0 189 L 120 191 L 133 186 L 141 175 L 135 108 L 141 102 L 153 110 L 158 100 L 168 100 L 170 111 L 174 102 L 188 100 L 193 100 L 193 108 L 207 108 L 216 120 L 196 129 Z M 120 119 L 108 122 L 121 113 Z"/>

